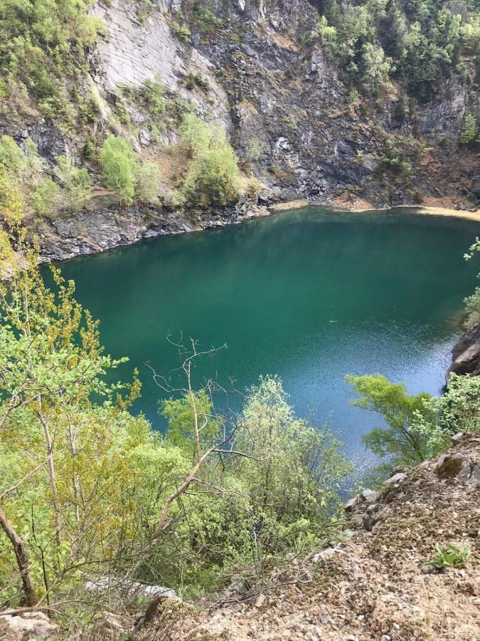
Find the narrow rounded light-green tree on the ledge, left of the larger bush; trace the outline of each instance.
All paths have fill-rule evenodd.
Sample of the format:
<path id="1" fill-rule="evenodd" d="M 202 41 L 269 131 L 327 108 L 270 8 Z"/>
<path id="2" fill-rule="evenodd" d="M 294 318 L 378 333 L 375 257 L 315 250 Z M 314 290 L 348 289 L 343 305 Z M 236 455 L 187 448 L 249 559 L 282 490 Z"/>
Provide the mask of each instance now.
<path id="1" fill-rule="evenodd" d="M 138 154 L 120 136 L 109 136 L 100 149 L 105 187 L 117 194 L 119 203 L 130 204 L 135 194 Z"/>

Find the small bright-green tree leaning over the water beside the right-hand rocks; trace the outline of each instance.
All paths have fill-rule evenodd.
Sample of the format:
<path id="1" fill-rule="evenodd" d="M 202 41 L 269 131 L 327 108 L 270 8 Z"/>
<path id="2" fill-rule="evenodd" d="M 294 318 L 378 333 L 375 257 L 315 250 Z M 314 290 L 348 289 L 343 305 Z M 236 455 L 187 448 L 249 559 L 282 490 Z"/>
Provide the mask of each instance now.
<path id="1" fill-rule="evenodd" d="M 430 395 L 421 392 L 407 395 L 404 383 L 393 383 L 380 374 L 346 376 L 346 381 L 361 395 L 352 405 L 383 416 L 387 427 L 375 427 L 363 437 L 366 446 L 380 457 L 389 457 L 390 464 L 418 464 L 427 456 L 425 437 L 412 429 L 419 417 L 430 420 L 425 401 Z"/>

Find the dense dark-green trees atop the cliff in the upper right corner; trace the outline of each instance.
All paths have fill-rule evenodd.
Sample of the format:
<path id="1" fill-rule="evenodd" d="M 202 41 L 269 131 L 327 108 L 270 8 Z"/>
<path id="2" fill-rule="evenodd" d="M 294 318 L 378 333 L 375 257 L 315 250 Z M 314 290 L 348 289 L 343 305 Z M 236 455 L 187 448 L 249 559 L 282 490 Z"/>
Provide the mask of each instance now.
<path id="1" fill-rule="evenodd" d="M 423 0 L 324 0 L 312 33 L 341 67 L 348 83 L 377 95 L 390 78 L 429 100 L 444 78 L 457 73 L 462 53 L 477 51 L 479 9 Z"/>

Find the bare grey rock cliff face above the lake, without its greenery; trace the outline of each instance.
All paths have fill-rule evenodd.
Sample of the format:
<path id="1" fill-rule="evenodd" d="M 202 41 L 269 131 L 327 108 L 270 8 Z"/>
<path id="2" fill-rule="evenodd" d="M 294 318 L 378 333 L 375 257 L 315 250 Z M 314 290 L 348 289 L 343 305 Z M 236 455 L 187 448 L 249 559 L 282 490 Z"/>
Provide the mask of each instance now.
<path id="1" fill-rule="evenodd" d="M 92 48 L 90 72 L 82 79 L 79 100 L 95 103 L 87 122 L 66 130 L 35 115 L 19 120 L 12 114 L 0 122 L 0 134 L 11 135 L 21 146 L 31 137 L 50 166 L 58 155 L 84 162 L 86 135 L 123 135 L 145 160 L 158 160 L 161 190 L 167 195 L 181 169 L 176 165 L 181 161 L 169 153 L 178 138 L 178 118 L 172 112 L 159 128 L 145 105 L 134 99 L 136 88 L 161 77 L 171 109 L 193 108 L 204 120 L 220 124 L 241 165 L 258 179 L 260 190 L 247 194 L 240 216 L 255 212 L 257 204 L 299 197 L 345 207 L 356 199 L 383 207 L 421 202 L 424 196 L 462 208 L 478 202 L 476 156 L 458 146 L 465 114 L 479 108 L 470 68 L 462 80 L 452 77 L 430 103 L 407 110 L 399 120 L 398 88 L 380 101 L 348 94 L 318 38 L 309 36 L 319 19 L 314 3 L 217 1 L 210 23 L 189 21 L 186 38 L 181 23 L 190 5 L 179 0 L 150 6 L 140 0 L 95 3 L 92 11 L 102 19 L 105 36 Z M 401 145 L 411 166 L 408 174 L 385 165 L 387 140 Z M 41 234 L 45 258 L 171 231 L 175 208 L 169 208 L 168 197 L 163 211 L 157 207 L 156 213 L 169 224 L 139 223 L 137 208 L 121 211 L 114 202 L 105 202 L 98 167 L 86 162 L 97 184 L 87 213 L 64 213 L 62 221 L 30 221 Z M 203 214 L 191 215 L 188 226 L 196 228 L 195 219 Z M 126 234 L 120 219 L 129 228 Z M 218 222 L 230 219 L 230 210 L 218 216 Z M 182 216 L 172 224 L 174 231 L 185 226 Z M 77 238 L 75 225 L 101 231 L 90 239 L 79 231 Z"/>

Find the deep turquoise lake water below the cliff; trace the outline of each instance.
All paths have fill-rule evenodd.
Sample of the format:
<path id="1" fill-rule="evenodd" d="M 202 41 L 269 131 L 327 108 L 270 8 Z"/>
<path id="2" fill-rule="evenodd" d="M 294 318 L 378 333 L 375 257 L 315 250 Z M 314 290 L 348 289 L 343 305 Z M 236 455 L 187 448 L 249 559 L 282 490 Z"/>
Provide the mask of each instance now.
<path id="1" fill-rule="evenodd" d="M 373 459 L 361 434 L 378 424 L 349 405 L 347 372 L 381 372 L 410 392 L 444 383 L 462 299 L 476 285 L 464 251 L 480 225 L 409 210 L 347 214 L 320 208 L 239 226 L 149 239 L 63 263 L 77 297 L 101 319 L 112 355 L 144 383 L 142 411 L 164 429 L 149 362 L 178 367 L 166 340 L 228 348 L 196 380 L 218 375 L 243 389 L 278 374 L 297 413 L 327 423 L 358 472 Z M 175 377 L 175 375 L 174 375 Z"/>

